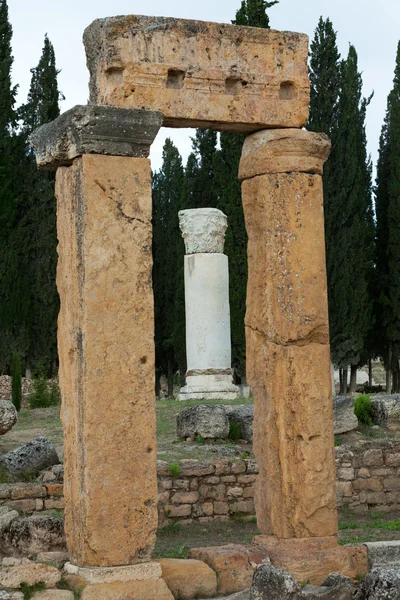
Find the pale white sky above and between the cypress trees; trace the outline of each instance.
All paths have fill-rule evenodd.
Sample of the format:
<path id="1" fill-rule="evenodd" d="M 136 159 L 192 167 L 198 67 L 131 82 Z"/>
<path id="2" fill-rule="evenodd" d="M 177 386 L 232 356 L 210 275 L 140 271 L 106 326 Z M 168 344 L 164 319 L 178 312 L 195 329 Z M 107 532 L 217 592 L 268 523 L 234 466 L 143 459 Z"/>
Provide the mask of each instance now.
<path id="1" fill-rule="evenodd" d="M 14 29 L 14 83 L 20 84 L 18 101 L 24 102 L 29 89 L 30 69 L 37 65 L 44 34 L 53 42 L 60 90 L 66 96 L 61 110 L 86 104 L 88 72 L 82 45 L 83 30 L 94 19 L 124 14 L 147 14 L 230 23 L 240 0 L 8 0 Z M 368 110 L 369 151 L 377 158 L 379 134 L 387 95 L 393 81 L 396 47 L 400 39 L 399 0 L 280 0 L 269 11 L 271 26 L 314 34 L 320 15 L 330 17 L 338 32 L 339 50 L 347 54 L 348 44 L 358 51 L 364 78 L 364 94 L 375 96 Z M 152 167 L 159 168 L 166 137 L 171 137 L 186 159 L 190 152 L 190 132 L 163 129 L 152 148 Z"/>

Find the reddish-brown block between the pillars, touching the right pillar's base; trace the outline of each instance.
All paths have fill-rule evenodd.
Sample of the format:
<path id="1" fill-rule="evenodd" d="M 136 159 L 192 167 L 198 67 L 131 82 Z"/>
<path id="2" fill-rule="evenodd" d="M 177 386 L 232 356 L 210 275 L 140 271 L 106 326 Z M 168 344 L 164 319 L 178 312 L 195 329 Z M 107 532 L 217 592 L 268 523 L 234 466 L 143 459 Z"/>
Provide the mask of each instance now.
<path id="1" fill-rule="evenodd" d="M 228 545 L 209 548 L 192 548 L 189 558 L 204 561 L 217 573 L 219 594 L 232 594 L 248 589 L 253 579 L 245 546 Z"/>

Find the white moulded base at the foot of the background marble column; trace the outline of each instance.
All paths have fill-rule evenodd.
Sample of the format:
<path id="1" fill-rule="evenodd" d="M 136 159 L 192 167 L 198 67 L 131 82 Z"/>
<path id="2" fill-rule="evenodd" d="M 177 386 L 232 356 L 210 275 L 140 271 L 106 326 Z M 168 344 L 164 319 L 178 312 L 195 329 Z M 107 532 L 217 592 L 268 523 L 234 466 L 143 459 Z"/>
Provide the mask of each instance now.
<path id="1" fill-rule="evenodd" d="M 181 388 L 179 400 L 236 400 L 239 398 L 239 388 L 233 384 L 232 371 L 188 372 L 186 385 Z"/>

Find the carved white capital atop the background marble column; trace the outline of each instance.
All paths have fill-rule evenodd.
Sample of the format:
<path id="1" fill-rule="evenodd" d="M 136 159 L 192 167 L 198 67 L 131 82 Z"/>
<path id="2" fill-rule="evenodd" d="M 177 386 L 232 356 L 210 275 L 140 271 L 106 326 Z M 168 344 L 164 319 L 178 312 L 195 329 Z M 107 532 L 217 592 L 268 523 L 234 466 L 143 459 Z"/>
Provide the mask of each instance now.
<path id="1" fill-rule="evenodd" d="M 224 252 L 226 215 L 217 208 L 193 208 L 179 211 L 179 226 L 186 254 Z"/>

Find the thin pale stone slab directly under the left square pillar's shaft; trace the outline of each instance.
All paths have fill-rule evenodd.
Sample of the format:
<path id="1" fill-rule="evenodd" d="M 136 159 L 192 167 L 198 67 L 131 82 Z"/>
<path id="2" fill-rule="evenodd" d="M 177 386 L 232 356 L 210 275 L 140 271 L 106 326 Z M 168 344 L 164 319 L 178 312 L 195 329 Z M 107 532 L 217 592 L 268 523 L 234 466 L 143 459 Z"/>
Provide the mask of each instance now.
<path id="1" fill-rule="evenodd" d="M 160 579 L 161 565 L 158 562 L 147 562 L 123 567 L 78 567 L 72 563 L 64 565 L 68 575 L 78 575 L 91 585 L 104 583 L 126 583 L 132 581 L 149 581 Z"/>

